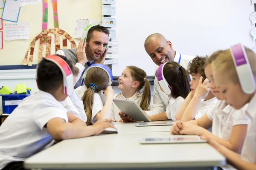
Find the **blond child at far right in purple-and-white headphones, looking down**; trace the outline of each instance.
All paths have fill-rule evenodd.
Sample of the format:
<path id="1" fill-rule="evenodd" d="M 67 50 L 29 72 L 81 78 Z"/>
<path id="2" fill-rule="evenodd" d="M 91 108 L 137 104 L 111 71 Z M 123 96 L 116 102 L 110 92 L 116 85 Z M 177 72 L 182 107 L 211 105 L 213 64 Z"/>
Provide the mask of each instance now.
<path id="1" fill-rule="evenodd" d="M 256 169 L 256 54 L 241 44 L 225 51 L 217 51 L 213 62 L 213 77 L 222 96 L 236 109 L 249 117 L 247 134 L 241 156 L 215 142 L 210 136 L 203 136 L 215 149 L 227 157 L 237 169 Z M 240 69 L 242 66 L 242 70 Z M 236 132 L 237 133 L 237 132 Z M 242 135 L 242 134 L 241 134 Z"/>

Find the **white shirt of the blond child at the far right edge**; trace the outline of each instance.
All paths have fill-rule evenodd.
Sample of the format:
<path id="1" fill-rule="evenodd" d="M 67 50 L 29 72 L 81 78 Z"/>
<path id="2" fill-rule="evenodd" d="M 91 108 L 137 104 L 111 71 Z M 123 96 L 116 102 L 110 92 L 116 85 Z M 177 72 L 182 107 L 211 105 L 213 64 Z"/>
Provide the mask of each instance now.
<path id="1" fill-rule="evenodd" d="M 245 113 L 249 117 L 249 121 L 241 158 L 244 161 L 256 164 L 256 95 L 253 96 L 247 106 Z"/>

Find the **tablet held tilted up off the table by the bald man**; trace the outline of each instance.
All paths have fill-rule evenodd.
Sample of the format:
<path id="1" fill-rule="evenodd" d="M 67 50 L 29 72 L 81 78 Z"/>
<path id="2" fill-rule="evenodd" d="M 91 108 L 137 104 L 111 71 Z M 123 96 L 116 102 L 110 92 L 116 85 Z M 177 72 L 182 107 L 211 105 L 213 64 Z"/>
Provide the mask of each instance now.
<path id="1" fill-rule="evenodd" d="M 133 120 L 151 122 L 146 113 L 140 108 L 140 106 L 130 100 L 118 100 L 113 99 L 116 106 L 127 116 L 131 117 Z"/>

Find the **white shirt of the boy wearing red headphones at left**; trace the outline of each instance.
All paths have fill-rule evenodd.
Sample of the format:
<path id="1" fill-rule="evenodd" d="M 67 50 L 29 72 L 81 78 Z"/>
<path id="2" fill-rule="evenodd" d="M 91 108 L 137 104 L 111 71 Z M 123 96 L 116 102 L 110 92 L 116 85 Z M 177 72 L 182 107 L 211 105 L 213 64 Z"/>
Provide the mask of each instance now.
<path id="1" fill-rule="evenodd" d="M 53 118 L 68 122 L 67 110 L 51 94 L 38 91 L 26 97 L 0 126 L 0 169 L 23 161 L 52 142 L 44 127 Z"/>

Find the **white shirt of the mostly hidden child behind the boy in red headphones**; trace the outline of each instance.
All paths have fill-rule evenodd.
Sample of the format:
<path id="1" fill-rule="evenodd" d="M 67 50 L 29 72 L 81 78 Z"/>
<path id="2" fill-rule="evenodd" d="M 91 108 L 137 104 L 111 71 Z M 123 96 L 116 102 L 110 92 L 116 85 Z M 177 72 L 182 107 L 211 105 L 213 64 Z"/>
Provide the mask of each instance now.
<path id="1" fill-rule="evenodd" d="M 68 96 L 63 102 L 61 102 L 61 104 L 68 112 L 72 113 L 84 122 L 87 121 L 87 116 L 84 111 L 84 103 L 76 91 L 73 91 L 71 96 Z"/>

